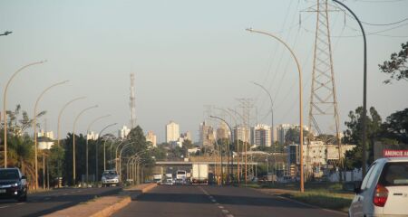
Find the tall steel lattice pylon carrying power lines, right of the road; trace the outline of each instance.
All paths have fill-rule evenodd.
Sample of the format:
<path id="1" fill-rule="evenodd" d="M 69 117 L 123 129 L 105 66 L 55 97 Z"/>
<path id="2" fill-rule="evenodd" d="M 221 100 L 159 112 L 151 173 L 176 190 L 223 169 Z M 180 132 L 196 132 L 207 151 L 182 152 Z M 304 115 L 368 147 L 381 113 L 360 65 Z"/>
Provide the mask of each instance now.
<path id="1" fill-rule="evenodd" d="M 339 117 L 335 95 L 335 72 L 328 7 L 327 0 L 317 0 L 315 54 L 308 127 L 311 132 L 319 135 L 335 135 L 340 150 Z M 339 156 L 340 153 L 339 151 Z"/>

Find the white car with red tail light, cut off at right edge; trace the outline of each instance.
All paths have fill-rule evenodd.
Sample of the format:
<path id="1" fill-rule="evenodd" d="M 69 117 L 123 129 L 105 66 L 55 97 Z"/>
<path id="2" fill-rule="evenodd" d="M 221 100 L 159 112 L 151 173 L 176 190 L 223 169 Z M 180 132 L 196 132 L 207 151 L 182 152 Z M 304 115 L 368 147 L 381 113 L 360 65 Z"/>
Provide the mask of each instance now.
<path id="1" fill-rule="evenodd" d="M 408 216 L 408 157 L 380 158 L 370 166 L 349 216 Z"/>

